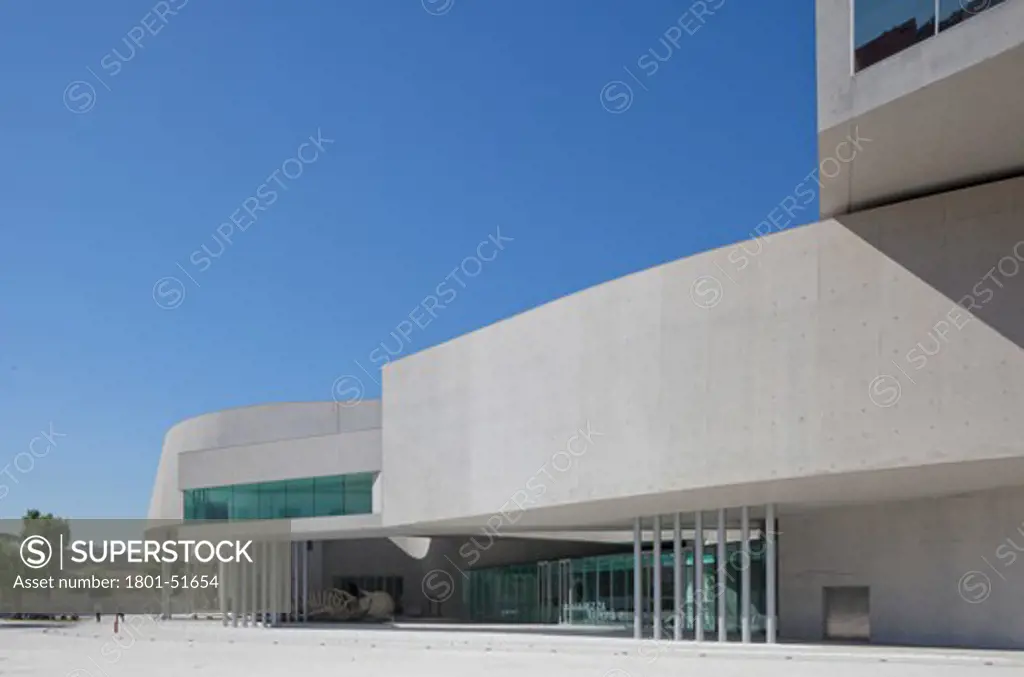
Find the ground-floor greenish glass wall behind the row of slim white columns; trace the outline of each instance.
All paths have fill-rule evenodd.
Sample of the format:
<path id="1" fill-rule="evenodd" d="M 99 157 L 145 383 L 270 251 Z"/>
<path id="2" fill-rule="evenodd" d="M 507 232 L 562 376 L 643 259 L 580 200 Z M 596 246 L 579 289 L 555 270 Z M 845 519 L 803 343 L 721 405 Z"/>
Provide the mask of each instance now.
<path id="1" fill-rule="evenodd" d="M 674 623 L 675 555 L 671 543 L 662 554 L 663 627 L 671 634 Z M 666 552 L 667 550 L 667 552 Z M 738 543 L 726 549 L 726 589 L 716 595 L 717 557 L 714 545 L 705 547 L 703 627 L 716 630 L 717 604 L 726 605 L 730 633 L 739 632 L 740 577 L 744 559 Z M 764 632 L 765 611 L 764 541 L 751 542 L 752 630 Z M 653 554 L 643 555 L 644 623 L 653 625 Z M 530 623 L 562 625 L 628 626 L 633 623 L 633 553 L 547 560 L 467 572 L 463 602 L 474 623 Z M 696 619 L 693 588 L 693 552 L 684 551 L 684 634 L 692 634 Z"/>

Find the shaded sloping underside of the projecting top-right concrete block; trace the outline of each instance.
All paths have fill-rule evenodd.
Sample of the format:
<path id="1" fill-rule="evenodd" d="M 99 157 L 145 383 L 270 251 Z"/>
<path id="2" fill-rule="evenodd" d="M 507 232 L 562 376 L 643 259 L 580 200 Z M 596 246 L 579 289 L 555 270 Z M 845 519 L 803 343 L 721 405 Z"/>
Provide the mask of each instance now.
<path id="1" fill-rule="evenodd" d="M 913 59 L 927 46 L 891 58 Z M 853 94 L 880 66 L 853 77 Z M 1024 173 L 1021 120 L 1024 45 L 822 129 L 821 217 Z M 844 145 L 848 137 L 869 140 L 857 150 Z"/>

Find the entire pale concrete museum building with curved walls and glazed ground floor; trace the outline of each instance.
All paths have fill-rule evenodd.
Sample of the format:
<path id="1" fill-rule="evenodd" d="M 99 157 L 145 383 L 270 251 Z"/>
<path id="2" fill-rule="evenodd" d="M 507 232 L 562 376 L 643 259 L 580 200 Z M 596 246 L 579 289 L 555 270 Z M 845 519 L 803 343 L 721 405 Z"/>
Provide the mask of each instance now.
<path id="1" fill-rule="evenodd" d="M 819 165 L 751 240 L 391 363 L 382 401 L 184 421 L 150 516 L 287 524 L 275 590 L 226 573 L 243 623 L 354 586 L 413 618 L 1024 646 L 1022 41 L 1019 0 L 817 0 Z"/>

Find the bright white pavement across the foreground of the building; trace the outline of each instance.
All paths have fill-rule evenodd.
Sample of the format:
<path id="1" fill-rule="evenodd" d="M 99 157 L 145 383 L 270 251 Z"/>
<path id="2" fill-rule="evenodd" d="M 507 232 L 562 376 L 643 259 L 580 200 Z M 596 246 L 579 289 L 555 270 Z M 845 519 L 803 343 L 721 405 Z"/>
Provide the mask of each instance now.
<path id="1" fill-rule="evenodd" d="M 354 628 L 233 629 L 129 617 L 38 628 L 0 625 L 4 677 L 975 677 L 1024 674 L 1024 653 L 881 647 L 693 643 Z M 1015 672 L 1009 673 L 1009 670 Z M 696 673 L 699 671 L 699 673 Z"/>

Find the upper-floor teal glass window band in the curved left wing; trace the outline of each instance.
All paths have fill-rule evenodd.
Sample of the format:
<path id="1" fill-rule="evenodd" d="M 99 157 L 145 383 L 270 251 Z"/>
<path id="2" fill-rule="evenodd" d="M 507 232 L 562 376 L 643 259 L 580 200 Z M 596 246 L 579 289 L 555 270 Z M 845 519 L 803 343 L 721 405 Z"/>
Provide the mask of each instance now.
<path id="1" fill-rule="evenodd" d="M 288 519 L 373 512 L 374 474 L 188 489 L 185 519 Z"/>

